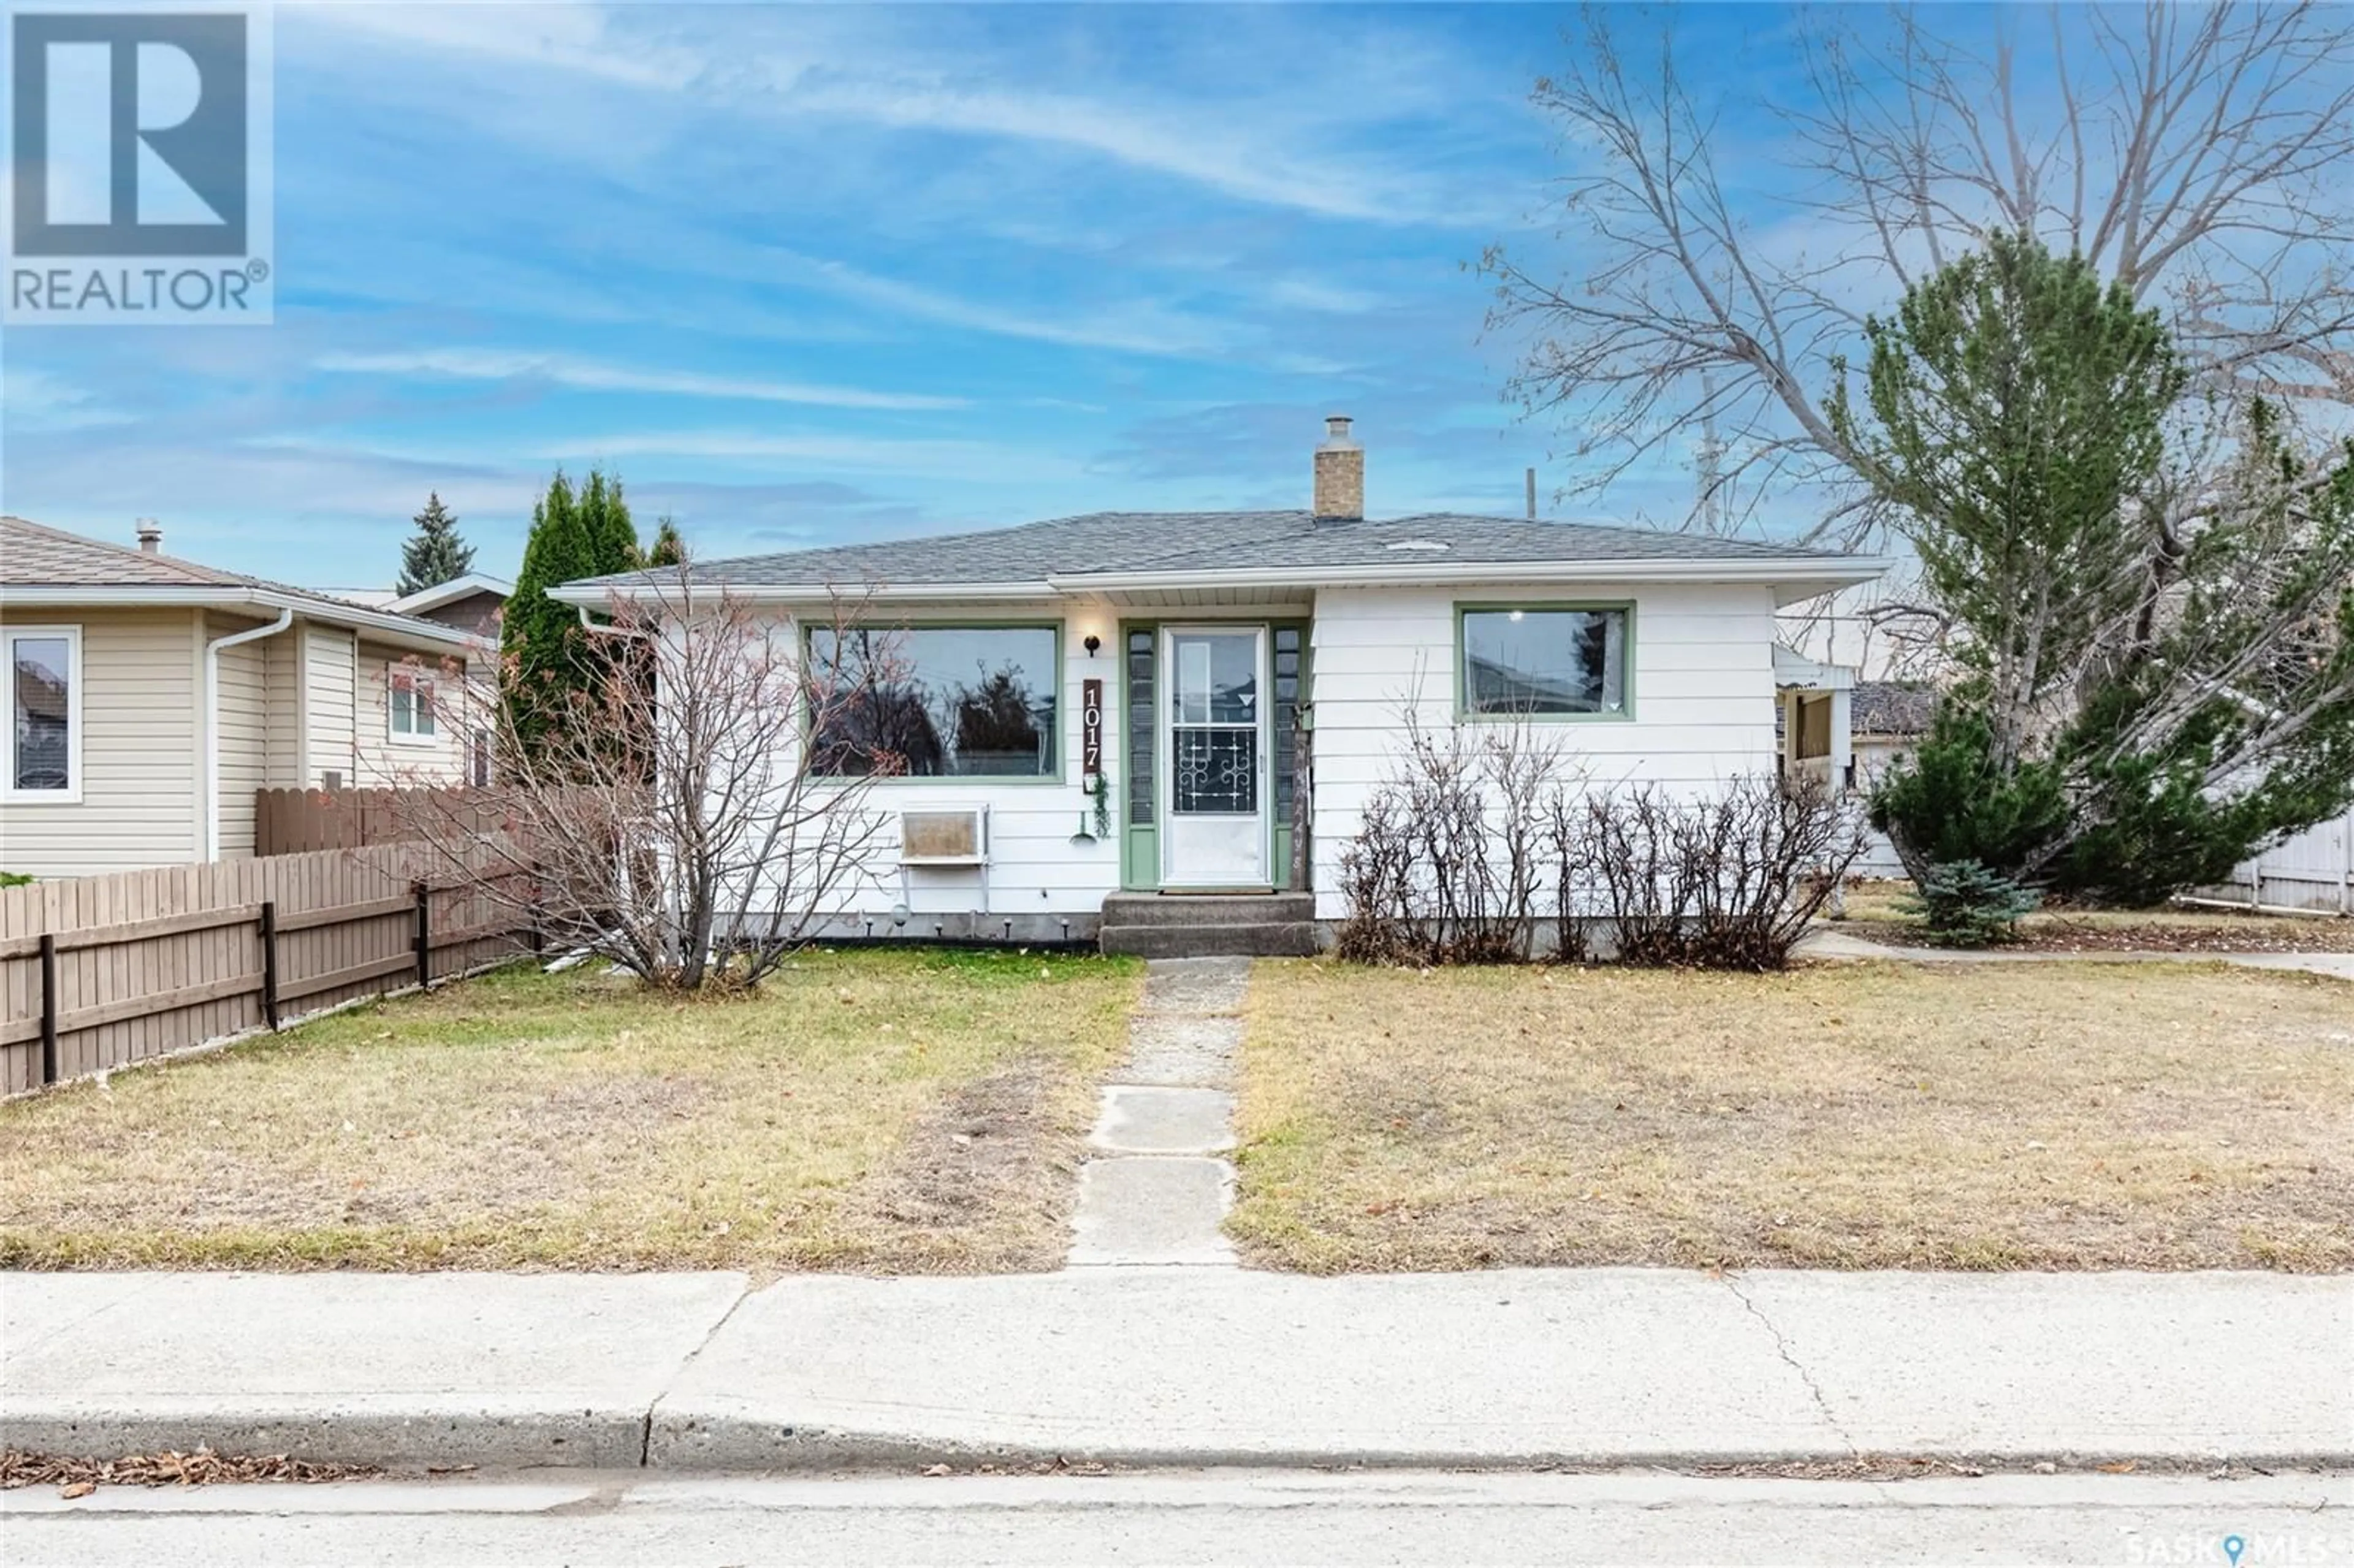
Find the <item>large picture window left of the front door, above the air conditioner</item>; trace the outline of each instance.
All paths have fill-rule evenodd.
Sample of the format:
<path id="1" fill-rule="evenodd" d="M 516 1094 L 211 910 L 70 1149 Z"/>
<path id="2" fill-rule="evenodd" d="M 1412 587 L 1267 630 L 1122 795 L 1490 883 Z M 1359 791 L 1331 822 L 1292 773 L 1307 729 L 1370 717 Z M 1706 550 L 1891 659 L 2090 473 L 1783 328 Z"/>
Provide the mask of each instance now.
<path id="1" fill-rule="evenodd" d="M 1055 626 L 810 631 L 826 709 L 810 768 L 829 777 L 1052 779 Z"/>

